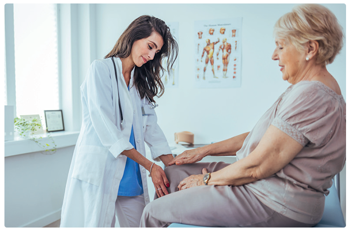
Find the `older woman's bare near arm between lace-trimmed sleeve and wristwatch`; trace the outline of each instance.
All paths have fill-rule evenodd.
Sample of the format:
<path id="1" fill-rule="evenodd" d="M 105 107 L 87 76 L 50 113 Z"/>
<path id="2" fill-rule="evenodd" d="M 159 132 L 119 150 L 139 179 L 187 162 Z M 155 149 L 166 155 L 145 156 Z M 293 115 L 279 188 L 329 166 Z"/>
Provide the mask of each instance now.
<path id="1" fill-rule="evenodd" d="M 294 138 L 270 125 L 249 155 L 212 172 L 208 185 L 239 186 L 270 177 L 292 161 L 303 147 Z"/>

